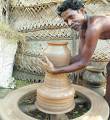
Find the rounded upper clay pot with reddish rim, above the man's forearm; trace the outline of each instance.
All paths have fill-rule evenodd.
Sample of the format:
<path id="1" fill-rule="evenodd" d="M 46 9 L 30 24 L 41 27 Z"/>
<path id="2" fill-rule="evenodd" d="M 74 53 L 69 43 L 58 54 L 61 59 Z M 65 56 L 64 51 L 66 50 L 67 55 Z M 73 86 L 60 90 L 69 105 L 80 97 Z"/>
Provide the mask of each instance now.
<path id="1" fill-rule="evenodd" d="M 49 42 L 44 54 L 55 66 L 65 66 L 70 63 L 71 53 L 68 42 Z"/>

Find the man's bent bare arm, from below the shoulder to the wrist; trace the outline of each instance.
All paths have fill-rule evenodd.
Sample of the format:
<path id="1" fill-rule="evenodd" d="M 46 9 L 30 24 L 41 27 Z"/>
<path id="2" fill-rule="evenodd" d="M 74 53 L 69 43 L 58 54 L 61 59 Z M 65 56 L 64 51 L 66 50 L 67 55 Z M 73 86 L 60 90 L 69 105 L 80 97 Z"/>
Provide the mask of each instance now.
<path id="1" fill-rule="evenodd" d="M 89 28 L 85 33 L 85 44 L 80 51 L 80 60 L 62 68 L 57 68 L 56 73 L 68 73 L 80 70 L 86 67 L 94 53 L 100 31 L 97 28 Z"/>

